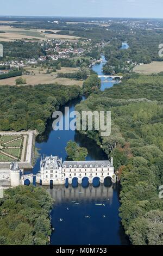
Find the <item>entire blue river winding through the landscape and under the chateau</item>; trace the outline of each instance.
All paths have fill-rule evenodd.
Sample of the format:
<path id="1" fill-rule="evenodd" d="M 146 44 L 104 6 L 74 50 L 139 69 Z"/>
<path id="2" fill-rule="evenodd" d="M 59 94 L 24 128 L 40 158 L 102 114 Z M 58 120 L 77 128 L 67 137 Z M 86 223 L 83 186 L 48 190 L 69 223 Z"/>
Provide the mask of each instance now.
<path id="1" fill-rule="evenodd" d="M 92 69 L 102 74 L 103 62 L 95 64 Z M 103 82 L 101 90 L 112 87 L 114 82 Z M 70 111 L 84 97 L 70 102 Z M 47 126 L 44 137 L 36 141 L 40 155 L 59 155 L 66 159 L 65 147 L 68 141 L 76 141 L 86 147 L 89 155 L 86 160 L 106 160 L 108 157 L 95 142 L 81 136 L 76 131 L 53 131 L 52 123 Z M 40 169 L 40 157 L 37 159 L 33 173 Z M 92 185 L 87 180 L 82 185 L 76 180 L 72 185 L 47 187 L 55 199 L 51 212 L 52 227 L 51 245 L 127 245 L 128 239 L 124 234 L 118 208 L 120 207 L 120 185 L 110 184 L 109 181 L 99 185 L 95 180 Z M 103 205 L 95 205 L 102 203 Z M 90 216 L 85 218 L 85 216 Z M 60 222 L 62 218 L 62 222 Z"/>

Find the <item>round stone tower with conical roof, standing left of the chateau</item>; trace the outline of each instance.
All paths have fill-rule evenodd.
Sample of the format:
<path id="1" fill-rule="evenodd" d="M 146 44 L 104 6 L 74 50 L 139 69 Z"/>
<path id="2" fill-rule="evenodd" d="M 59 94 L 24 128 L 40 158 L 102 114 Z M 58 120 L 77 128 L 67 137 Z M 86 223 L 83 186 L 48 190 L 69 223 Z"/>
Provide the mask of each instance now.
<path id="1" fill-rule="evenodd" d="M 11 187 L 20 185 L 20 168 L 16 162 L 10 164 Z"/>

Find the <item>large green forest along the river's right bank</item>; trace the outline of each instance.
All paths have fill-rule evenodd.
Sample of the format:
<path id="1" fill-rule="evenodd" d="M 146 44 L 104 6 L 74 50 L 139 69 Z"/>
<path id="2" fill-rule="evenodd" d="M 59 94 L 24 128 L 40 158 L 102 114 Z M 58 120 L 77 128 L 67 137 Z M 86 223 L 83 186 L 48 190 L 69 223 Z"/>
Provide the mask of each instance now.
<path id="1" fill-rule="evenodd" d="M 87 131 L 108 156 L 114 157 L 121 180 L 120 216 L 134 245 L 163 241 L 163 77 L 134 75 L 77 105 L 79 112 L 111 111 L 111 135 Z"/>

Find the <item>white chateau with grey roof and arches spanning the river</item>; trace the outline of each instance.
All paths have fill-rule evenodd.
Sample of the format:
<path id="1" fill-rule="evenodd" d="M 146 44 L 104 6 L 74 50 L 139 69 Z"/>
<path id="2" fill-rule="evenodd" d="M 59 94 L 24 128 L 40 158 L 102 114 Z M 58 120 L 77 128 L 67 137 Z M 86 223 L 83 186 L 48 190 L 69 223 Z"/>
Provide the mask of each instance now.
<path id="1" fill-rule="evenodd" d="M 92 184 L 93 178 L 98 177 L 103 183 L 106 177 L 114 178 L 113 159 L 105 161 L 64 161 L 57 156 L 47 156 L 41 160 L 40 173 L 36 175 L 36 182 L 42 185 L 63 185 L 68 179 L 77 178 L 81 184 L 84 177 Z"/>

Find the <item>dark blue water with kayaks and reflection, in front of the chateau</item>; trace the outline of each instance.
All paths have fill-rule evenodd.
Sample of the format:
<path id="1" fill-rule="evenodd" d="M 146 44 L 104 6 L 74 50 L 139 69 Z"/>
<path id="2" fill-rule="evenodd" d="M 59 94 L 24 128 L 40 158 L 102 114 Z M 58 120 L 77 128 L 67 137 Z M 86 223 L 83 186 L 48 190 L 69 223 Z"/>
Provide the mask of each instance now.
<path id="1" fill-rule="evenodd" d="M 47 188 L 55 199 L 51 244 L 127 245 L 118 216 L 118 187 L 118 184 L 101 184 Z"/>

